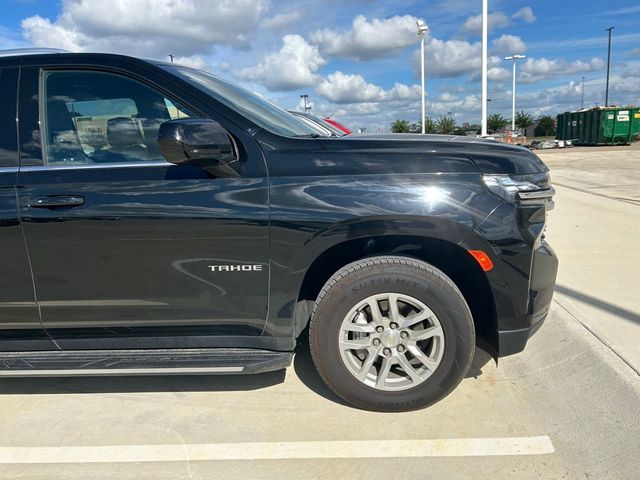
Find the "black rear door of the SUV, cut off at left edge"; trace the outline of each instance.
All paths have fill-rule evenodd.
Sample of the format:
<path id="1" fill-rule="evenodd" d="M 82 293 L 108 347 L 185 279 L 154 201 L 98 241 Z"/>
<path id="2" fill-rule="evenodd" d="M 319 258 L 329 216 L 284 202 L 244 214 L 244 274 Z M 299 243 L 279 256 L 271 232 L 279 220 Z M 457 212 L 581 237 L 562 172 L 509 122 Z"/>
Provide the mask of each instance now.
<path id="1" fill-rule="evenodd" d="M 16 203 L 17 67 L 0 67 L 0 350 L 55 348 L 40 323 Z"/>

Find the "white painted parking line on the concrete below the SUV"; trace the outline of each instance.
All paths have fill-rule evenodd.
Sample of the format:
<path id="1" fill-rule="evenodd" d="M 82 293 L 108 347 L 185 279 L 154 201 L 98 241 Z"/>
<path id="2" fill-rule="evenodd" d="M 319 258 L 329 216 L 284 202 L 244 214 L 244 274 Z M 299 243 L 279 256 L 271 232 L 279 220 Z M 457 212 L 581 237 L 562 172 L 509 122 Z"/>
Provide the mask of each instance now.
<path id="1" fill-rule="evenodd" d="M 127 463 L 309 458 L 402 458 L 543 455 L 553 453 L 548 436 L 363 440 L 319 442 L 104 445 L 91 447 L 0 447 L 0 464 Z"/>

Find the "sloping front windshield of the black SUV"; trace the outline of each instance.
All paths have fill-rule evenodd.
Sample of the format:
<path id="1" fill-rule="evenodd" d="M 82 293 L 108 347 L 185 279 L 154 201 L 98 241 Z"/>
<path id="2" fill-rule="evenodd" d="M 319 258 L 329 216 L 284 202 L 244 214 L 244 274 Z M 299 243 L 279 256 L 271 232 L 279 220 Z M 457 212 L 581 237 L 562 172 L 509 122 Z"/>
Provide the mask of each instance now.
<path id="1" fill-rule="evenodd" d="M 251 93 L 210 73 L 173 65 L 161 66 L 200 90 L 205 91 L 265 130 L 287 137 L 322 136 L 317 130 L 311 128 L 286 110 L 255 93 Z"/>

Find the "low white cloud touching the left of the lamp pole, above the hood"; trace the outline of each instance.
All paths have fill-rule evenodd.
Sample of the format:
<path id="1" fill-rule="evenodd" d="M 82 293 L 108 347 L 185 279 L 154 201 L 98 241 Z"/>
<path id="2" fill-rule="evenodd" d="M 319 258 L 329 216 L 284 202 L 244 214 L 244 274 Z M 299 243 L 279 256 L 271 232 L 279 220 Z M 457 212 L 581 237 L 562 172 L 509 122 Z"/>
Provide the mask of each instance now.
<path id="1" fill-rule="evenodd" d="M 396 83 L 391 89 L 367 82 L 362 75 L 349 75 L 340 71 L 325 78 L 316 91 L 335 103 L 374 103 L 415 101 L 420 98 L 419 85 Z"/>

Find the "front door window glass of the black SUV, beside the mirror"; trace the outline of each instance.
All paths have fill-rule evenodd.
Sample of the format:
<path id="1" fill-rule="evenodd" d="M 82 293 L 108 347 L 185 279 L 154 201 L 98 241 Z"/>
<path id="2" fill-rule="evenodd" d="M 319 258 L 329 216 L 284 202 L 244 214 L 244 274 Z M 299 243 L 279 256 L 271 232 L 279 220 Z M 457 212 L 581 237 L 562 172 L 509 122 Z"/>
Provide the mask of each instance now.
<path id="1" fill-rule="evenodd" d="M 160 124 L 190 116 L 154 89 L 105 72 L 45 74 L 49 165 L 162 161 Z"/>

